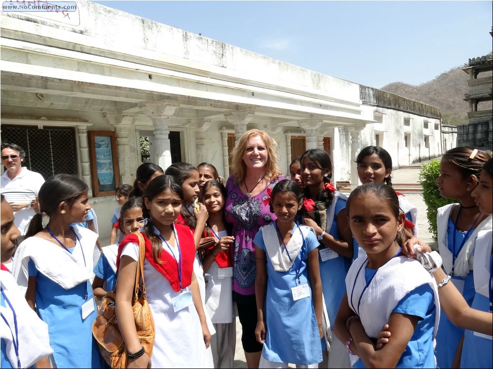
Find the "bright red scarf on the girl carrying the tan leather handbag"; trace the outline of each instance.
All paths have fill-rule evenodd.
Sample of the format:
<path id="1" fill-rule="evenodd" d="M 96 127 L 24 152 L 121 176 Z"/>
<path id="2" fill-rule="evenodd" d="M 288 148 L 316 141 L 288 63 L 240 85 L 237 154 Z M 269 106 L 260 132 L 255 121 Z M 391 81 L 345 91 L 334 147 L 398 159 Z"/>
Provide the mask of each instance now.
<path id="1" fill-rule="evenodd" d="M 178 244 L 181 251 L 181 288 L 185 288 L 192 283 L 193 263 L 195 260 L 195 241 L 190 233 L 190 228 L 185 225 L 175 223 L 176 235 L 178 236 Z M 168 279 L 173 290 L 180 290 L 178 280 L 178 268 L 176 267 L 175 257 L 166 250 L 161 251 L 162 264 L 157 263 L 152 255 L 152 244 L 150 240 L 141 232 L 145 240 L 145 259 L 157 270 L 163 277 Z M 118 256 L 116 257 L 116 268 L 120 263 L 121 252 L 123 247 L 129 242 L 139 245 L 139 239 L 136 235 L 130 234 L 126 236 L 118 246 Z M 167 246 L 164 246 L 167 247 Z"/>

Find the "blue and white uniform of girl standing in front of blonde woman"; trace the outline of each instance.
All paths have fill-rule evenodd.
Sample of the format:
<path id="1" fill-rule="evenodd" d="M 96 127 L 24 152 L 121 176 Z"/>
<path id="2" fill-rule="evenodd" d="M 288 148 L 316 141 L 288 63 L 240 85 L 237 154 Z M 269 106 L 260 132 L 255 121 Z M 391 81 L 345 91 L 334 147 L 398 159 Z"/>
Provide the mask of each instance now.
<path id="1" fill-rule="evenodd" d="M 322 361 L 322 348 L 311 288 L 310 296 L 296 301 L 291 292 L 296 286 L 310 287 L 308 253 L 318 247 L 318 241 L 310 227 L 295 226 L 283 249 L 277 232 L 275 223 L 270 223 L 260 227 L 253 239 L 267 258 L 262 356 L 276 363 L 318 364 Z"/>

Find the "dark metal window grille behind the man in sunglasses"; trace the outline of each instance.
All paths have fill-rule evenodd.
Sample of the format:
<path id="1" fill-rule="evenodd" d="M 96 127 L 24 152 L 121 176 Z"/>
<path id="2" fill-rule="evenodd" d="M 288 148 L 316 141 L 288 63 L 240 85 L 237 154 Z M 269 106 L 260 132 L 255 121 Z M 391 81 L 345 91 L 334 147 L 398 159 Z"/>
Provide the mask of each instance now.
<path id="1" fill-rule="evenodd" d="M 22 147 L 26 152 L 23 166 L 44 179 L 61 173 L 78 174 L 74 128 L 2 124 L 1 140 Z"/>

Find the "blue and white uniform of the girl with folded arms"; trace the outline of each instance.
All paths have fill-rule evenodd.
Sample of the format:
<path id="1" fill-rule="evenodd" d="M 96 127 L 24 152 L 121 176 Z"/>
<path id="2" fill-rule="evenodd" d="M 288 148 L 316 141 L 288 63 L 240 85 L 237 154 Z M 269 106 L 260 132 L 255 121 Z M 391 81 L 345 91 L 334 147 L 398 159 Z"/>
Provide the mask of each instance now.
<path id="1" fill-rule="evenodd" d="M 438 328 L 440 303 L 435 280 L 417 260 L 396 256 L 377 270 L 368 259 L 354 261 L 346 278 L 348 301 L 360 317 L 369 338 L 376 340 L 390 314 L 418 316 L 413 336 L 395 368 L 435 368 L 433 339 Z M 354 368 L 365 368 L 358 360 Z"/>

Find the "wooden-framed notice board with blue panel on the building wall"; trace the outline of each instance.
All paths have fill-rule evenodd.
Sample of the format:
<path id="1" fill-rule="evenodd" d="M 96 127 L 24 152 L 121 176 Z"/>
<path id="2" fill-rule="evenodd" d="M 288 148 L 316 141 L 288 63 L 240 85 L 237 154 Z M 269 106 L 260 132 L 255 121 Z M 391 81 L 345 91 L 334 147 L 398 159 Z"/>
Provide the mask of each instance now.
<path id="1" fill-rule="evenodd" d="M 120 185 L 114 131 L 88 131 L 93 196 L 114 195 Z"/>

